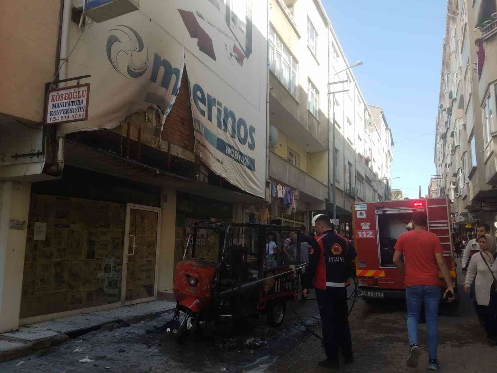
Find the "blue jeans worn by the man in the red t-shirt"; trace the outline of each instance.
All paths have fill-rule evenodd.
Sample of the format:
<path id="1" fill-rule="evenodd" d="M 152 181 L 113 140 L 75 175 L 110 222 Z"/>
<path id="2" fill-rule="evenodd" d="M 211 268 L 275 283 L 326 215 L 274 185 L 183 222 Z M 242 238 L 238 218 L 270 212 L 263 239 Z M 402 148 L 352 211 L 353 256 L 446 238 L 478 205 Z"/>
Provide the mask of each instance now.
<path id="1" fill-rule="evenodd" d="M 440 296 L 440 286 L 415 285 L 406 287 L 409 344 L 417 344 L 417 324 L 421 313 L 421 305 L 424 302 L 426 328 L 428 330 L 428 354 L 430 359 L 436 359 L 438 344 L 437 317 Z"/>

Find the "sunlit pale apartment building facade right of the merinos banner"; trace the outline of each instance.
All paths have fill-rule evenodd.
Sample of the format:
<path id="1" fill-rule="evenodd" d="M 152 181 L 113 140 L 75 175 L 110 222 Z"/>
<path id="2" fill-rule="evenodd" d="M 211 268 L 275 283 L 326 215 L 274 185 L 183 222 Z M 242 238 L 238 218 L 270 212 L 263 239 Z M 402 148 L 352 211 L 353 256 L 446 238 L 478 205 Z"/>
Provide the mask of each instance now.
<path id="1" fill-rule="evenodd" d="M 339 230 L 350 234 L 354 202 L 390 199 L 393 137 L 385 113 L 366 103 L 321 1 L 271 0 L 269 20 L 269 132 L 277 134 L 269 141 L 269 178 L 299 189 L 306 222 L 332 216 L 334 186 Z M 271 217 L 292 222 L 278 206 L 271 203 Z"/>

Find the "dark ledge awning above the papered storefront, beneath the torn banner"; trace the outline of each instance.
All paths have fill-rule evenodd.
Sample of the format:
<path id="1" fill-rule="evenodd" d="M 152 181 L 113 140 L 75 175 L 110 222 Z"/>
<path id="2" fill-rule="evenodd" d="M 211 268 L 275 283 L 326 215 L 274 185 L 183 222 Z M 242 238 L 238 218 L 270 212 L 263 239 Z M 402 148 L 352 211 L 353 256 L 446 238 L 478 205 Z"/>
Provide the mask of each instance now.
<path id="1" fill-rule="evenodd" d="M 231 203 L 262 203 L 264 199 L 222 187 L 198 182 L 150 167 L 101 149 L 71 140 L 65 141 L 64 162 L 86 170 L 156 186 L 175 187 L 181 191 Z"/>

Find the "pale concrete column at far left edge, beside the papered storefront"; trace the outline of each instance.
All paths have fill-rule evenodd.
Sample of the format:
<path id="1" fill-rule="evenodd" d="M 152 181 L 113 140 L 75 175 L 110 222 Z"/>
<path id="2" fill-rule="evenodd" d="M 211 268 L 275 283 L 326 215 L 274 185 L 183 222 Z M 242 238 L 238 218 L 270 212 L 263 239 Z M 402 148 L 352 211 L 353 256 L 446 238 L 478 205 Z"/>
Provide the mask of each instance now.
<path id="1" fill-rule="evenodd" d="M 0 332 L 19 326 L 31 184 L 3 183 L 0 217 Z M 24 221 L 11 229 L 10 220 Z"/>

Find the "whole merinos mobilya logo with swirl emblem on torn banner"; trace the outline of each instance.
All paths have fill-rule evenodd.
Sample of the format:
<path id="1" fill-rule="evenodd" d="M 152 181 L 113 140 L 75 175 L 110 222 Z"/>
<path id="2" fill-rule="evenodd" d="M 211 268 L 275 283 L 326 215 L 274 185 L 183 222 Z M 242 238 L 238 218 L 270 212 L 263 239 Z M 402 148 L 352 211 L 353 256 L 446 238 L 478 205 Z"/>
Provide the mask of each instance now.
<path id="1" fill-rule="evenodd" d="M 112 31 L 112 34 L 107 38 L 106 51 L 112 68 L 126 79 L 143 76 L 149 67 L 149 55 L 148 48 L 145 48 L 140 34 L 132 27 L 125 25 L 118 25 L 109 31 Z M 123 54 L 128 56 L 126 67 L 122 66 L 125 60 Z M 159 79 L 161 71 L 163 71 L 162 79 Z M 179 92 L 181 76 L 182 68 L 180 70 L 178 67 L 173 67 L 167 59 L 154 53 L 150 72 L 152 85 L 149 85 L 143 100 L 156 105 L 163 114 L 167 114 Z M 170 92 L 170 97 L 167 92 Z M 244 165 L 248 170 L 255 171 L 253 158 L 236 149 L 215 133 L 217 131 L 214 127 L 217 125 L 218 129 L 238 141 L 241 146 L 247 147 L 249 151 L 254 152 L 256 149 L 255 127 L 248 124 L 244 118 L 237 117 L 234 110 L 223 104 L 222 98 L 217 98 L 211 93 L 206 94 L 197 83 L 192 85 L 191 99 L 198 113 L 206 119 L 202 123 L 199 118 L 195 118 L 195 130 L 222 154 Z M 214 124 L 214 127 L 206 126 L 207 122 Z"/>

